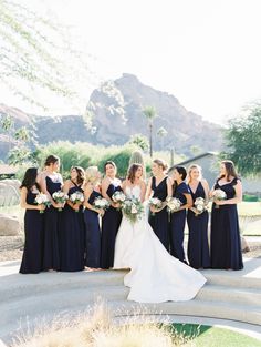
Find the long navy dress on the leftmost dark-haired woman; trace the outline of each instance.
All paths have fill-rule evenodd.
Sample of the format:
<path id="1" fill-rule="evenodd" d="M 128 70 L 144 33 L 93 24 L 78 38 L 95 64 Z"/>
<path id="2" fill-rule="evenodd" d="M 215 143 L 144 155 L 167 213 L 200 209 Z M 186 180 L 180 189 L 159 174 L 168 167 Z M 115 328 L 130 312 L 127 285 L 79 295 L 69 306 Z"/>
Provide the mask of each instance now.
<path id="1" fill-rule="evenodd" d="M 38 194 L 28 192 L 27 203 L 34 205 Z M 25 242 L 20 267 L 21 274 L 38 274 L 43 266 L 43 214 L 39 210 L 25 210 Z"/>

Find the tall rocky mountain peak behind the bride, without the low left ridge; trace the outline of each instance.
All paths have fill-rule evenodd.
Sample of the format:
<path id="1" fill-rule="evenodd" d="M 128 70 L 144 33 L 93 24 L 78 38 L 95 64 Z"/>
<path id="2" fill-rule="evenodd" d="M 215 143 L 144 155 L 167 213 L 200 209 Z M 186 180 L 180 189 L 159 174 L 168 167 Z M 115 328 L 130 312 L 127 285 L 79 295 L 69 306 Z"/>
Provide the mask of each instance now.
<path id="1" fill-rule="evenodd" d="M 123 144 L 133 134 L 147 135 L 147 120 L 143 115 L 147 105 L 154 106 L 158 115 L 154 120 L 157 149 L 160 140 L 156 133 L 164 126 L 168 132 L 164 139 L 166 147 L 175 147 L 180 153 L 188 153 L 192 145 L 203 151 L 220 150 L 221 126 L 203 121 L 200 115 L 187 111 L 174 95 L 147 86 L 127 73 L 105 82 L 91 94 L 88 109 L 94 113 L 95 142 Z"/>

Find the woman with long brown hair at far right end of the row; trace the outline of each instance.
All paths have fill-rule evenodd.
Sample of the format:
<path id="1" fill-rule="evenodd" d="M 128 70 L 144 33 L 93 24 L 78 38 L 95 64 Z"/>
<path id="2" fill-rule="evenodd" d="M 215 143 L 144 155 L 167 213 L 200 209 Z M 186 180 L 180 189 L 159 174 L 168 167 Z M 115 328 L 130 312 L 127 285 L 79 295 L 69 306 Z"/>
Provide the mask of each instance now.
<path id="1" fill-rule="evenodd" d="M 222 161 L 220 176 L 213 190 L 227 194 L 226 200 L 215 201 L 211 214 L 211 267 L 242 269 L 243 261 L 239 234 L 237 204 L 242 201 L 242 184 L 233 162 Z M 210 193 L 212 196 L 212 191 Z"/>

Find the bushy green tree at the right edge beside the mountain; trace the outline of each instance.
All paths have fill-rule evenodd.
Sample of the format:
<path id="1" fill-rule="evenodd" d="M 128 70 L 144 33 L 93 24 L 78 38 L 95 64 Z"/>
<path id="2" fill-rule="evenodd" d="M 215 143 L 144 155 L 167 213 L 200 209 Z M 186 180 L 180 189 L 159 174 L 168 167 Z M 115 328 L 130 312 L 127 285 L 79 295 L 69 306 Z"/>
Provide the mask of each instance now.
<path id="1" fill-rule="evenodd" d="M 230 159 L 243 175 L 261 174 L 261 104 L 246 109 L 247 114 L 229 122 L 225 139 L 228 149 L 222 159 Z"/>

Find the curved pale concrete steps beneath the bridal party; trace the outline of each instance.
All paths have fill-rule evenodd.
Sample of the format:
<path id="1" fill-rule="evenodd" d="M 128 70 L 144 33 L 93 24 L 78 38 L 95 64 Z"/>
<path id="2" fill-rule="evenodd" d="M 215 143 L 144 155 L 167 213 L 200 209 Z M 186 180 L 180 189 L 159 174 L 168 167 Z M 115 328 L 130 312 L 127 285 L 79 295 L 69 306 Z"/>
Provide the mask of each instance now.
<path id="1" fill-rule="evenodd" d="M 194 300 L 146 305 L 126 300 L 124 271 L 21 275 L 19 266 L 20 262 L 0 263 L 0 338 L 6 344 L 28 324 L 85 310 L 97 297 L 107 302 L 115 317 L 146 310 L 177 319 L 186 316 L 190 323 L 205 319 L 212 325 L 211 319 L 218 319 L 261 336 L 261 258 L 246 258 L 240 272 L 202 271 L 208 283 Z"/>

